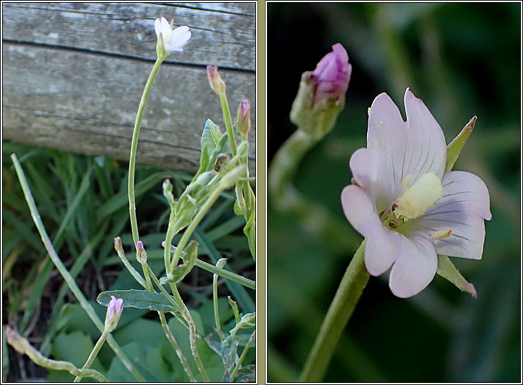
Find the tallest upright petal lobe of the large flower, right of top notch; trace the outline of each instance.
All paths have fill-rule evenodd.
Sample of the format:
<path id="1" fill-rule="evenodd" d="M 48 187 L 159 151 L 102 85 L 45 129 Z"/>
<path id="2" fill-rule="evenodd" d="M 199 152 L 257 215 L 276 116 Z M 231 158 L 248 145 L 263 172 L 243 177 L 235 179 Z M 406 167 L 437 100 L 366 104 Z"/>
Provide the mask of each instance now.
<path id="1" fill-rule="evenodd" d="M 421 99 L 407 88 L 405 91 L 408 146 L 405 152 L 404 175 L 413 181 L 426 172 L 443 177 L 446 163 L 446 143 L 442 128 Z"/>

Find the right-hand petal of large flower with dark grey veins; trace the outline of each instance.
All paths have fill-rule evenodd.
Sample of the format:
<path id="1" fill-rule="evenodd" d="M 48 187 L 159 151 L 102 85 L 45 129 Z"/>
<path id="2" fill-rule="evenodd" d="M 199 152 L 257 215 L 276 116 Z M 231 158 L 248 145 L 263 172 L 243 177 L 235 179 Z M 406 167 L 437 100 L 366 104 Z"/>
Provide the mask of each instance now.
<path id="1" fill-rule="evenodd" d="M 481 259 L 485 240 L 484 219 L 492 217 L 489 190 L 476 175 L 464 171 L 447 172 L 442 180 L 443 197 L 413 228 L 429 235 L 437 230 L 452 230 L 450 236 L 435 239 L 437 253 L 451 257 Z"/>

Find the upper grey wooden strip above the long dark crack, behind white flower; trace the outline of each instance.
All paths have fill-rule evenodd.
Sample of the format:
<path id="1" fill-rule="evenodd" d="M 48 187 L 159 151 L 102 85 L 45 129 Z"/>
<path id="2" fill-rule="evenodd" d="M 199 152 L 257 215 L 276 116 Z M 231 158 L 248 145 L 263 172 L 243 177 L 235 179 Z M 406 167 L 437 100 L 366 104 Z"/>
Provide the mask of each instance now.
<path id="1" fill-rule="evenodd" d="M 255 8 L 254 3 L 246 3 Z M 221 3 L 221 10 L 228 3 Z M 208 4 L 210 7 L 210 3 Z M 233 8 L 237 10 L 237 8 Z M 154 21 L 193 31 L 190 46 L 166 62 L 255 71 L 255 16 L 152 3 L 3 3 L 3 40 L 156 59 Z"/>

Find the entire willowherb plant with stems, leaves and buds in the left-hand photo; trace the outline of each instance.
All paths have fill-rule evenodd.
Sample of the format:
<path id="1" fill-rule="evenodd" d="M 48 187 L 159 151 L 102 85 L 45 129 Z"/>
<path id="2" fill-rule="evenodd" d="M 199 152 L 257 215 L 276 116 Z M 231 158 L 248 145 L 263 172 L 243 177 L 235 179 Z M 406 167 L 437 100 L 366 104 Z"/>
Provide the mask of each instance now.
<path id="1" fill-rule="evenodd" d="M 99 319 L 92 310 L 83 293 L 81 293 L 81 290 L 79 290 L 68 270 L 63 266 L 58 255 L 55 253 L 39 218 L 26 178 L 23 175 L 23 170 L 16 155 L 12 155 L 12 160 L 19 175 L 26 200 L 28 201 L 34 222 L 42 236 L 44 245 L 52 261 L 81 303 L 81 306 L 86 310 L 86 313 L 88 313 L 89 317 L 100 330 L 101 337 L 81 369 L 76 368 L 70 362 L 57 362 L 43 357 L 43 355 L 29 345 L 26 339 L 17 335 L 16 331 L 12 328 L 6 330 L 8 333 L 8 342 L 21 353 L 28 354 L 34 362 L 41 366 L 70 371 L 70 373 L 77 376 L 75 382 L 79 382 L 82 377 L 87 376 L 98 379 L 99 381 L 107 381 L 107 378 L 103 374 L 90 369 L 101 346 L 103 346 L 106 340 L 133 377 L 141 382 L 146 381 L 144 375 L 139 372 L 135 364 L 126 356 L 124 350 L 119 347 L 110 334 L 112 330 L 115 330 L 117 327 L 122 313 L 125 313 L 124 308 L 128 307 L 154 310 L 158 313 L 166 339 L 174 349 L 188 381 L 250 382 L 255 380 L 255 365 L 242 366 L 242 362 L 244 362 L 246 354 L 255 340 L 255 332 L 249 332 L 248 334 L 239 333 L 241 329 L 255 328 L 255 313 L 240 314 L 235 300 L 228 297 L 228 302 L 235 315 L 235 324 L 230 326 L 229 330 L 224 330 L 219 317 L 219 298 L 217 292 L 219 276 L 252 290 L 255 290 L 255 282 L 227 270 L 225 268 L 225 258 L 219 259 L 216 266 L 199 259 L 199 244 L 194 239 L 191 239 L 193 233 L 197 230 L 197 226 L 213 207 L 220 195 L 229 188 L 235 187 L 236 201 L 234 211 L 236 215 L 241 215 L 245 218 L 246 225 L 244 226 L 244 233 L 248 238 L 248 245 L 253 258 L 255 257 L 255 194 L 250 186 L 250 181 L 253 180 L 253 178 L 250 178 L 248 173 L 250 101 L 244 99 L 238 108 L 236 128 L 240 134 L 241 141 L 237 144 L 235 126 L 233 126 L 225 92 L 226 84 L 219 76 L 216 66 L 209 66 L 207 75 L 210 86 L 217 95 L 219 95 L 226 132 L 221 132 L 219 126 L 208 119 L 201 135 L 200 166 L 195 177 L 193 177 L 190 184 L 186 186 L 179 197 L 175 197 L 173 186 L 168 179 L 164 180 L 162 184 L 163 194 L 170 208 L 168 228 L 165 240 L 161 245 L 164 248 L 165 275 L 163 277 L 157 277 L 150 268 L 146 246 L 139 237 L 135 204 L 135 159 L 141 118 L 144 114 L 152 83 L 155 80 L 162 61 L 164 61 L 171 52 L 183 50 L 191 37 L 191 32 L 187 26 L 181 26 L 173 30 L 172 25 L 173 22 L 168 23 L 164 17 L 156 19 L 155 21 L 157 60 L 150 72 L 141 97 L 130 149 L 128 178 L 130 224 L 132 228 L 132 239 L 135 244 L 136 259 L 141 265 L 143 275 L 139 273 L 127 259 L 120 237 L 115 238 L 115 250 L 117 254 L 143 290 L 110 290 L 100 293 L 97 297 L 97 302 L 108 307 L 105 323 L 101 322 L 101 319 Z M 181 235 L 177 246 L 172 245 L 173 238 L 180 233 L 181 230 L 184 230 L 184 233 Z M 197 322 L 195 322 L 193 314 L 188 310 L 177 288 L 177 284 L 195 267 L 213 273 L 215 333 L 207 336 L 199 333 Z M 170 290 L 170 293 L 168 293 L 168 290 Z M 175 333 L 172 333 L 171 323 L 170 321 L 168 322 L 166 313 L 173 315 L 178 322 L 188 330 L 189 352 L 193 357 L 188 356 L 188 350 L 182 347 L 186 346 L 187 342 L 179 341 L 175 338 Z M 238 349 L 241 345 L 244 346 L 244 349 L 238 354 Z M 216 353 L 217 357 L 223 362 L 223 370 L 217 371 L 216 368 L 213 367 L 212 375 L 208 373 L 206 362 L 200 354 L 202 346 L 206 347 L 206 352 Z M 194 366 L 196 366 L 198 373 L 193 373 Z"/>

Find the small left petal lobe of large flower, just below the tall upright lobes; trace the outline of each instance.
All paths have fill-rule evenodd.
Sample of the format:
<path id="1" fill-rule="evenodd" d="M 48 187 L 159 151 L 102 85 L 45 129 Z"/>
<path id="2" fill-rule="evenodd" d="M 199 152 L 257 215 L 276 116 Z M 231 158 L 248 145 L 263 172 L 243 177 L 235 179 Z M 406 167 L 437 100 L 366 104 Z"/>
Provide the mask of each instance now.
<path id="1" fill-rule="evenodd" d="M 389 201 L 395 199 L 382 155 L 370 148 L 360 148 L 354 152 L 349 163 L 354 181 L 368 192 L 379 209 L 384 209 Z M 382 207 L 383 206 L 383 207 Z"/>

